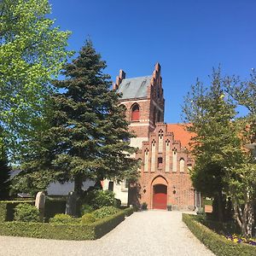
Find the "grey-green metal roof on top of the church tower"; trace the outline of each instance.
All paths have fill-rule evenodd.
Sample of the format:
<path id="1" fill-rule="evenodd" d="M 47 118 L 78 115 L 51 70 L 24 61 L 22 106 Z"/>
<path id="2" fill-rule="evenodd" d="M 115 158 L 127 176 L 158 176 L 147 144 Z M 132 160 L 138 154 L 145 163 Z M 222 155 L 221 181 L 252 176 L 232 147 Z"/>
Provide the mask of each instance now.
<path id="1" fill-rule="evenodd" d="M 122 99 L 146 97 L 151 78 L 152 76 L 123 79 L 117 92 L 122 93 Z"/>

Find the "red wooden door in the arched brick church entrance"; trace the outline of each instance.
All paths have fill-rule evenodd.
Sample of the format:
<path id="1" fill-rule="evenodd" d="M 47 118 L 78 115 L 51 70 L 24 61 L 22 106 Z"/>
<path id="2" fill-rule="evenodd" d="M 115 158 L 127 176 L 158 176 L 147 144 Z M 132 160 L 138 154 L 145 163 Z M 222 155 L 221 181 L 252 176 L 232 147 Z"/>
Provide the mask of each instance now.
<path id="1" fill-rule="evenodd" d="M 165 209 L 167 207 L 167 187 L 166 185 L 154 185 L 153 208 Z"/>

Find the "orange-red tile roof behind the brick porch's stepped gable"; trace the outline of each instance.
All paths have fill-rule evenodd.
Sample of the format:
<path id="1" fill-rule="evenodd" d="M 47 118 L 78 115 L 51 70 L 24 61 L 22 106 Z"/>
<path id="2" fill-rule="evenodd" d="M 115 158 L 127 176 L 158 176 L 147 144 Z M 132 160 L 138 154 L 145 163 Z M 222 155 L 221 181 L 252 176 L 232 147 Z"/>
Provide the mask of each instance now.
<path id="1" fill-rule="evenodd" d="M 181 142 L 182 147 L 191 148 L 189 142 L 195 133 L 186 131 L 185 125 L 188 124 L 167 124 L 167 131 L 172 131 L 174 139 Z"/>

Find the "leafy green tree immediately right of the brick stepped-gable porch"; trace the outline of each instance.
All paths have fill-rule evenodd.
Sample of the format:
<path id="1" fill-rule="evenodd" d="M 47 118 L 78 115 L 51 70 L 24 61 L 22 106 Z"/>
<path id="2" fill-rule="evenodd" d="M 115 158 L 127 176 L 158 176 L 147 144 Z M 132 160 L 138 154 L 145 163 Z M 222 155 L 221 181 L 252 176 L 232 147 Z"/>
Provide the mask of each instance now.
<path id="1" fill-rule="evenodd" d="M 183 117 L 189 122 L 195 168 L 191 178 L 195 189 L 204 195 L 216 196 L 227 186 L 224 180 L 226 168 L 241 161 L 241 140 L 238 127 L 232 122 L 236 105 L 224 94 L 224 79 L 220 70 L 213 70 L 209 86 L 199 81 L 183 105 Z"/>

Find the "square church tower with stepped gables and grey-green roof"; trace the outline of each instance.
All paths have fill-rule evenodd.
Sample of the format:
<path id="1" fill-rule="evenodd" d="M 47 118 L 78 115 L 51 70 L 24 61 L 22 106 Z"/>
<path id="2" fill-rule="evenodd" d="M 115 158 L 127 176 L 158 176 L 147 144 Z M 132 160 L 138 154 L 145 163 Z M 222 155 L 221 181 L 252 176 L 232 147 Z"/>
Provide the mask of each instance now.
<path id="1" fill-rule="evenodd" d="M 130 130 L 137 136 L 131 139 L 131 146 L 142 148 L 156 123 L 164 121 L 165 100 L 160 69 L 160 64 L 156 63 L 151 76 L 132 79 L 126 79 L 125 72 L 120 70 L 113 84 L 113 90 L 122 94 L 119 102 L 125 106 Z"/>

